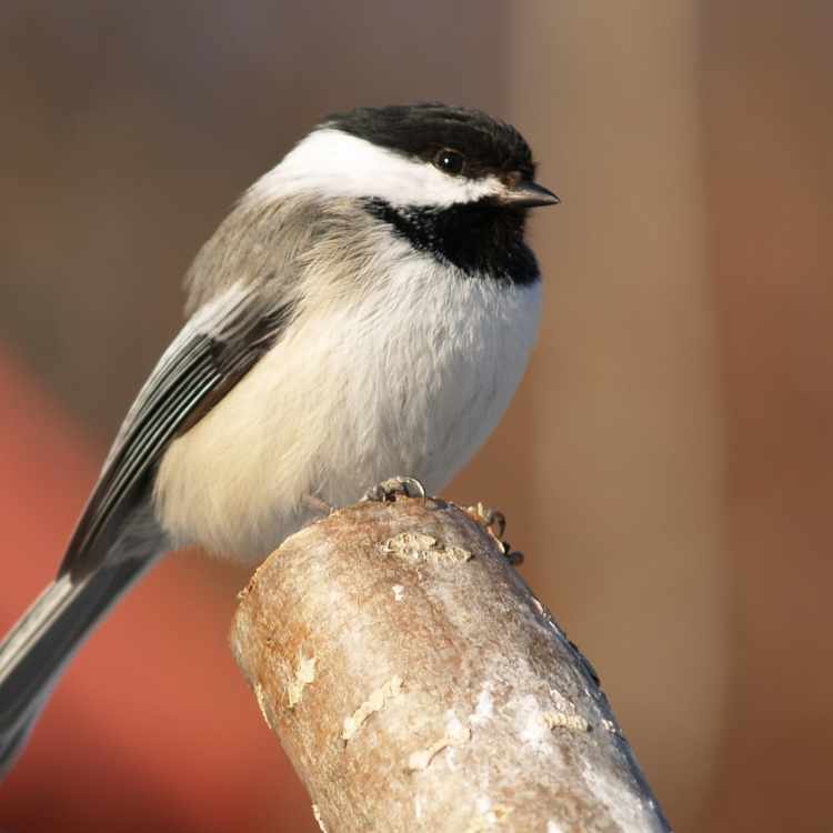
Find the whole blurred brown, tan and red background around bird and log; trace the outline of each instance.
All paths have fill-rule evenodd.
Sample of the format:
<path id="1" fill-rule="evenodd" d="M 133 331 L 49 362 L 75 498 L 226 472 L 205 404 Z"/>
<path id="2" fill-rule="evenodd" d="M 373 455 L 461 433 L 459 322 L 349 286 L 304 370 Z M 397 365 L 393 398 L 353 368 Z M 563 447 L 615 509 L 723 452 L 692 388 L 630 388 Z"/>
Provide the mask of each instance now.
<path id="1" fill-rule="evenodd" d="M 516 123 L 540 347 L 446 490 L 508 515 L 678 831 L 831 831 L 833 4 L 0 6 L 0 629 L 51 579 L 180 278 L 320 118 Z M 314 831 L 227 649 L 245 574 L 167 559 L 90 641 L 0 829 Z"/>

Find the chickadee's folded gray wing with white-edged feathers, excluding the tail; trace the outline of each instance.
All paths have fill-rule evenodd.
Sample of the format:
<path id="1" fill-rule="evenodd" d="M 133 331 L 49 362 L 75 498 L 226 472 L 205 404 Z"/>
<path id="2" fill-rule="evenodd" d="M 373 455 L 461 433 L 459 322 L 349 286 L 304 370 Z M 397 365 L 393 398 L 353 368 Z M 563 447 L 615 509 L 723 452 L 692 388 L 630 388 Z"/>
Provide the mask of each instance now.
<path id="1" fill-rule="evenodd" d="M 59 576 L 88 575 L 149 494 L 167 445 L 195 424 L 265 353 L 293 305 L 267 307 L 255 287 L 204 304 L 164 352 L 126 418 L 64 555 Z"/>

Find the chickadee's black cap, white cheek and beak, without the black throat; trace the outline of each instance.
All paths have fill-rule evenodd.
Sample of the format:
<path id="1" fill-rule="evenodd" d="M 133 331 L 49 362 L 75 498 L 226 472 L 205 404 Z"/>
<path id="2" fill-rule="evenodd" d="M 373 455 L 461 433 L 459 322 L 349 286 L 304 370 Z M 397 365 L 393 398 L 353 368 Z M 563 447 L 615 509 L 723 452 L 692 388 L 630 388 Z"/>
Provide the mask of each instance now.
<path id="1" fill-rule="evenodd" d="M 441 210 L 552 205 L 523 137 L 479 110 L 439 103 L 358 108 L 328 117 L 255 185 Z"/>

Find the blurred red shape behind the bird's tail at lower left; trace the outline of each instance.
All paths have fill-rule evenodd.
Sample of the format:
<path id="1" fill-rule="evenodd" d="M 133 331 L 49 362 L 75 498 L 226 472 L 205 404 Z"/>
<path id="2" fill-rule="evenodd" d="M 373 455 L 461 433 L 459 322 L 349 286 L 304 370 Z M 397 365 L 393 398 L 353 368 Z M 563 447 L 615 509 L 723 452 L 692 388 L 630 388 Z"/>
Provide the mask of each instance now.
<path id="1" fill-rule="evenodd" d="M 1 631 L 53 576 L 99 456 L 0 351 Z M 233 606 L 217 564 L 157 566 L 82 649 L 0 784 L 0 830 L 318 830 L 231 660 Z"/>

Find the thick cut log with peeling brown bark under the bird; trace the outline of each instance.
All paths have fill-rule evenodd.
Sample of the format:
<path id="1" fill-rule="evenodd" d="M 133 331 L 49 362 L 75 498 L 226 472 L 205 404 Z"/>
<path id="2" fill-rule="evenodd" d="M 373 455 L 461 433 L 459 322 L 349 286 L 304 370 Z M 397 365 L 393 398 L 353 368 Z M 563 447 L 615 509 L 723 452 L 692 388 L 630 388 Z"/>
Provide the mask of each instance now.
<path id="1" fill-rule="evenodd" d="M 670 831 L 592 668 L 453 504 L 288 539 L 231 644 L 323 831 Z"/>

